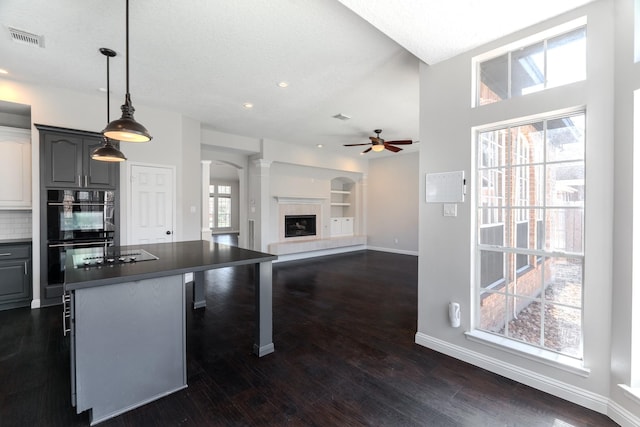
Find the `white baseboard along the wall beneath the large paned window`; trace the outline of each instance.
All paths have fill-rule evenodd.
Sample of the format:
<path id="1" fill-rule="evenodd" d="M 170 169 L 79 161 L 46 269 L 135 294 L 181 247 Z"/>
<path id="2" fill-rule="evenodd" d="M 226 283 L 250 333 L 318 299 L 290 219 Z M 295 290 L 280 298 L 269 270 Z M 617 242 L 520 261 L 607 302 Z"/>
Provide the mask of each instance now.
<path id="1" fill-rule="evenodd" d="M 415 342 L 423 347 L 444 353 L 474 366 L 568 400 L 569 402 L 576 403 L 602 414 L 607 414 L 609 399 L 589 390 L 558 381 L 554 378 L 541 375 L 538 372 L 521 368 L 520 366 L 507 363 L 504 360 L 453 345 L 447 341 L 420 332 L 416 333 Z"/>

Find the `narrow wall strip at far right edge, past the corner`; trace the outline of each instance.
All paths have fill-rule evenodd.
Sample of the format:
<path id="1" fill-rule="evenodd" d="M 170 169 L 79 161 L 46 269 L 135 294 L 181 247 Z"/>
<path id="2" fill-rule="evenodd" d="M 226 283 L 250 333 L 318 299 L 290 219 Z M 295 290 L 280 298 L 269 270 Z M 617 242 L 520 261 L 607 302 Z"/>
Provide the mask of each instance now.
<path id="1" fill-rule="evenodd" d="M 637 2 L 635 2 L 637 3 Z M 632 369 L 631 361 L 635 359 L 635 369 L 640 369 L 638 354 L 632 353 L 632 339 L 636 348 L 640 345 L 640 330 L 632 329 L 632 317 L 638 316 L 640 297 L 638 285 L 635 284 L 632 271 L 634 258 L 639 257 L 637 244 L 633 247 L 633 235 L 638 236 L 633 227 L 634 207 L 638 206 L 640 196 L 638 185 L 640 177 L 634 174 L 634 158 L 640 164 L 638 151 L 634 149 L 634 137 L 638 138 L 640 128 L 634 129 L 638 112 L 634 112 L 633 92 L 640 88 L 640 65 L 633 63 L 634 58 L 634 0 L 618 0 L 615 2 L 615 169 L 614 169 L 614 229 L 613 229 L 613 264 L 612 264 L 612 310 L 611 310 L 611 399 L 624 410 L 640 417 L 640 400 L 631 402 L 618 384 L 629 385 Z M 635 212 L 636 217 L 638 212 Z M 637 239 L 637 237 L 636 237 Z M 636 268 L 639 264 L 636 263 Z M 637 278 L 635 281 L 637 282 Z M 635 304 L 635 305 L 632 305 Z M 638 321 L 636 320 L 636 327 Z M 636 372 L 636 375 L 638 373 Z M 640 378 L 635 378 L 638 381 Z M 634 384 L 638 387 L 640 384 Z"/>

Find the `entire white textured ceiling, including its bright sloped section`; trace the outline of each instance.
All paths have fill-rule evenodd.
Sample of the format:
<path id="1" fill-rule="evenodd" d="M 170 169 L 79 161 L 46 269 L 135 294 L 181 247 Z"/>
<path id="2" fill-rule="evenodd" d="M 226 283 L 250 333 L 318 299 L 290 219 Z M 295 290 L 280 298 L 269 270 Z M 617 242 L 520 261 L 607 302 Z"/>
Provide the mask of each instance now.
<path id="1" fill-rule="evenodd" d="M 131 94 L 139 111 L 357 155 L 360 147 L 342 144 L 367 142 L 376 128 L 385 139 L 418 139 L 418 58 L 435 63 L 587 2 L 132 0 Z M 115 117 L 124 23 L 124 0 L 2 0 L 0 68 L 17 81 L 96 94 L 105 85 L 98 49 L 114 49 Z M 45 47 L 13 42 L 8 27 L 44 36 Z"/>

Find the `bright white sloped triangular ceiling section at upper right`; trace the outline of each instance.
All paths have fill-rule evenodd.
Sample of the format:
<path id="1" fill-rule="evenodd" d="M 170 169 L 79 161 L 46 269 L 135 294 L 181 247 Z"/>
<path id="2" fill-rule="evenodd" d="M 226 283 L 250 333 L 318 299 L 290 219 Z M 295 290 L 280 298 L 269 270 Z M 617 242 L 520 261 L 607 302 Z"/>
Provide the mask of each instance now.
<path id="1" fill-rule="evenodd" d="M 339 0 L 435 64 L 594 0 Z"/>

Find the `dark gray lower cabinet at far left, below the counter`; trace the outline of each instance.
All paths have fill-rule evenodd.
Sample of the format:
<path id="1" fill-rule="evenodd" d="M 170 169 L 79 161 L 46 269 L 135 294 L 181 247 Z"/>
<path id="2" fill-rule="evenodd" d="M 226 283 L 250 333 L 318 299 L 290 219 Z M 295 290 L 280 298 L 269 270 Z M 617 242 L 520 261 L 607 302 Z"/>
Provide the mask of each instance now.
<path id="1" fill-rule="evenodd" d="M 31 305 L 31 243 L 0 243 L 0 310 Z"/>

